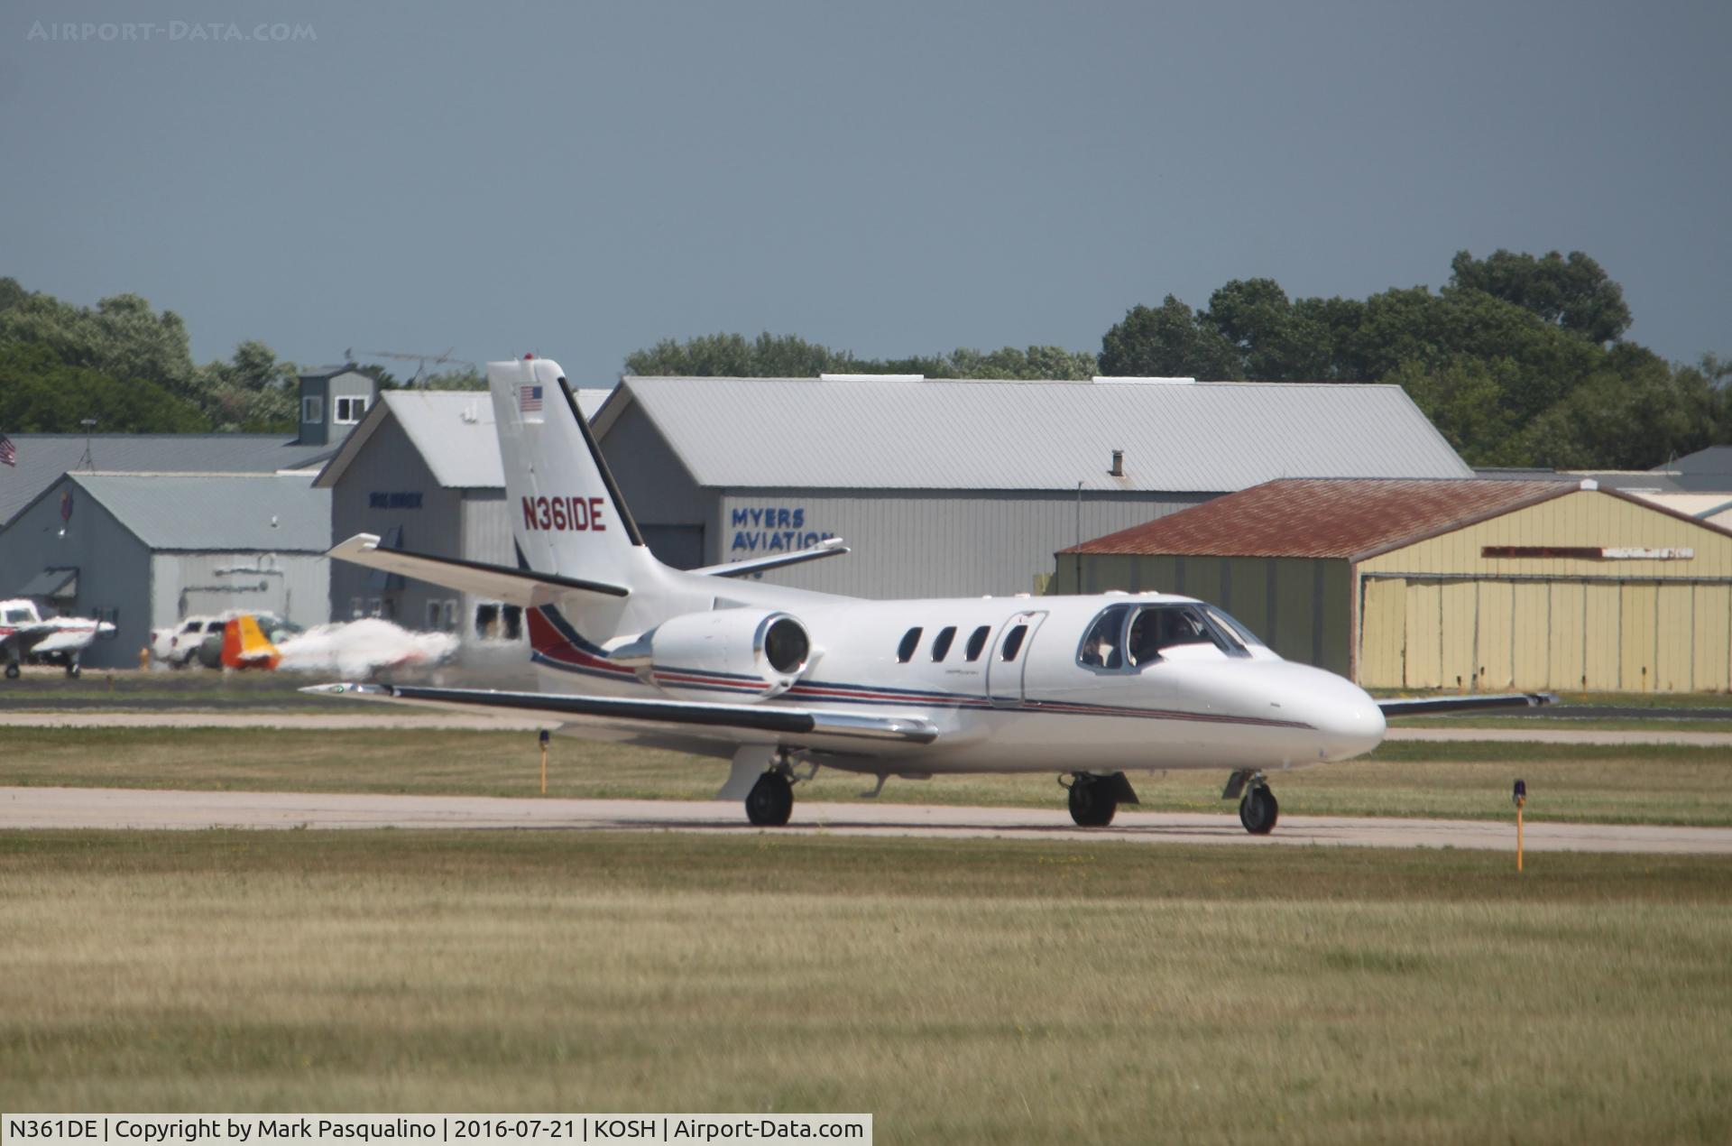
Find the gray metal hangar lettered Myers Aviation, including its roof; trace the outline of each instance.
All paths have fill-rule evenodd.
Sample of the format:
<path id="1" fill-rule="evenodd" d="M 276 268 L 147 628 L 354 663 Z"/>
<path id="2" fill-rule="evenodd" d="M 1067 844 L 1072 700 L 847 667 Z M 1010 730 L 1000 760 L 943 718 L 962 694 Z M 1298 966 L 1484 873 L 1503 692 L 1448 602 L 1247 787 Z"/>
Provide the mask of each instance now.
<path id="1" fill-rule="evenodd" d="M 1467 477 L 1399 387 L 637 378 L 594 418 L 650 544 L 857 596 L 1027 593 L 1053 550 L 1275 477 Z"/>

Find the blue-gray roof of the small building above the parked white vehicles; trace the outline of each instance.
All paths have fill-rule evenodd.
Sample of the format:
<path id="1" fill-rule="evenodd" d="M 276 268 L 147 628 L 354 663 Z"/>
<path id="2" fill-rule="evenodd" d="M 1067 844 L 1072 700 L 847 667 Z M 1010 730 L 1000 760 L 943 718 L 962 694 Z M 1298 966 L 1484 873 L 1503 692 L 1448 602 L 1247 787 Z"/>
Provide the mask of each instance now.
<path id="1" fill-rule="evenodd" d="M 68 479 L 152 550 L 324 553 L 331 548 L 331 492 L 313 489 L 307 473 L 71 473 Z"/>

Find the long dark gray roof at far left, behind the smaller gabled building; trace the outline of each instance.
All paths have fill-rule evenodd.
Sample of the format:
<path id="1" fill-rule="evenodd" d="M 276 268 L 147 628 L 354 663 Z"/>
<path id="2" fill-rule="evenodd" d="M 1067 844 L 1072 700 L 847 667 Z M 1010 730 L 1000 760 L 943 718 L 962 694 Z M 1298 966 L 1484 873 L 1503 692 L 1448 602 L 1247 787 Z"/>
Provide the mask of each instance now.
<path id="1" fill-rule="evenodd" d="M 12 520 L 62 473 L 80 468 L 83 433 L 12 433 L 17 468 L 0 466 L 0 525 Z M 282 433 L 97 433 L 92 470 L 126 473 L 274 473 L 303 470 L 334 454 Z"/>

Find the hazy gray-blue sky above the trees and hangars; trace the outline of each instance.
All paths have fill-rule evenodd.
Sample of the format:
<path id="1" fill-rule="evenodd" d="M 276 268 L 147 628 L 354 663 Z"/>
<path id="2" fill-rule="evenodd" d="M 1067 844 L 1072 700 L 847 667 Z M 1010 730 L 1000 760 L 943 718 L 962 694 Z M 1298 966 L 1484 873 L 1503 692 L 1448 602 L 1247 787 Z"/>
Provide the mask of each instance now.
<path id="1" fill-rule="evenodd" d="M 0 274 L 142 293 L 201 361 L 596 383 L 712 331 L 1098 350 L 1233 277 L 1365 296 L 1555 248 L 1694 361 L 1732 354 L 1729 42 L 1723 2 L 24 0 Z"/>

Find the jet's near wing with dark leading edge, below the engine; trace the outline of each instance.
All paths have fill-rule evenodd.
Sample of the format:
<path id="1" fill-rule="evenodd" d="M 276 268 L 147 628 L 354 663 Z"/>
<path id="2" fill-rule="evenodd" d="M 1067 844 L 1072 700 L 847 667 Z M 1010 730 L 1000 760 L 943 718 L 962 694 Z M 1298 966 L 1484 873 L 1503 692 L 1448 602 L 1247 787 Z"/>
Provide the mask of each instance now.
<path id="1" fill-rule="evenodd" d="M 816 747 L 838 752 L 920 747 L 932 744 L 939 735 L 930 723 L 918 716 L 864 716 L 771 704 L 695 704 L 547 692 L 495 692 L 490 688 L 423 688 L 419 685 L 312 685 L 301 692 L 530 716 L 577 728 L 677 733 L 700 740 Z"/>

